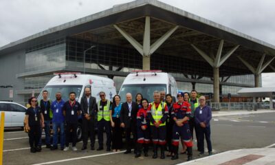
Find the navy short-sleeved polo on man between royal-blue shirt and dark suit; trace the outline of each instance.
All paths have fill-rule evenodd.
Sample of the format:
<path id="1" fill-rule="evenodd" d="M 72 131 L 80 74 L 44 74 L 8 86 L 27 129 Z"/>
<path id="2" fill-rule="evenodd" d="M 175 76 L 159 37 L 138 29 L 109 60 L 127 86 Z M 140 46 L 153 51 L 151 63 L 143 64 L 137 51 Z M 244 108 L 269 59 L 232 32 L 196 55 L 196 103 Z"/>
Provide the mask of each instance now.
<path id="1" fill-rule="evenodd" d="M 66 112 L 65 121 L 70 123 L 77 123 L 78 122 L 78 111 L 81 111 L 81 107 L 79 102 L 75 101 L 73 104 L 69 102 L 65 102 L 63 105 L 63 111 Z"/>

